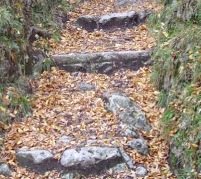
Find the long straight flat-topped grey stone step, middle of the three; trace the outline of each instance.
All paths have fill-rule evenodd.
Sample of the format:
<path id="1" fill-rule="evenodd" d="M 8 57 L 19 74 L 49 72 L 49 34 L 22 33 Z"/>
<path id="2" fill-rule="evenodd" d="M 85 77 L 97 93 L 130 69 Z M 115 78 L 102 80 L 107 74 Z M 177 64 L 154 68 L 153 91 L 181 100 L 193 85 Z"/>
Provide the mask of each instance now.
<path id="1" fill-rule="evenodd" d="M 52 55 L 59 69 L 110 74 L 120 68 L 138 70 L 150 59 L 149 51 L 70 53 Z"/>

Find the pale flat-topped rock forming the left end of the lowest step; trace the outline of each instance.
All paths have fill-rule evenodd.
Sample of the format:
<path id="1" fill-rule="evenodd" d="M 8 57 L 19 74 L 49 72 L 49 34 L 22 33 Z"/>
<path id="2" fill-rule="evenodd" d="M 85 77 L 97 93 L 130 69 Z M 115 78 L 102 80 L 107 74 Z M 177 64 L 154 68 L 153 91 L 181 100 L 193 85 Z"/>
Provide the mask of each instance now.
<path id="1" fill-rule="evenodd" d="M 16 158 L 23 165 L 42 164 L 53 158 L 53 154 L 47 150 L 18 150 Z"/>

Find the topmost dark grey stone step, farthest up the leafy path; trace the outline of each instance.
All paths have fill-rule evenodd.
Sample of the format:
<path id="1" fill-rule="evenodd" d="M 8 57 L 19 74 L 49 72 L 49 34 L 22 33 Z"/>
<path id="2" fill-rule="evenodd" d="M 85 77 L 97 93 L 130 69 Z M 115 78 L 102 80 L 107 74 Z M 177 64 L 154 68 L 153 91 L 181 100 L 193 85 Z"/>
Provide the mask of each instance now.
<path id="1" fill-rule="evenodd" d="M 108 30 L 111 28 L 130 28 L 144 22 L 151 14 L 150 10 L 143 10 L 139 13 L 128 11 L 123 13 L 112 13 L 102 16 L 83 15 L 80 16 L 76 23 L 89 32 L 95 29 Z"/>

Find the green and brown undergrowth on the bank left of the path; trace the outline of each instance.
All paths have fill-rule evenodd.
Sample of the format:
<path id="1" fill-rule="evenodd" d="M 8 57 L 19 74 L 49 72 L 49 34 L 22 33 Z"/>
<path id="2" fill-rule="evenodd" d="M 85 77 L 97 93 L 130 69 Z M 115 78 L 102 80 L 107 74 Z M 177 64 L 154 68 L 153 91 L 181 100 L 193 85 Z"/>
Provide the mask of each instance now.
<path id="1" fill-rule="evenodd" d="M 36 40 L 37 34 L 31 34 L 31 29 L 47 30 L 53 38 L 58 38 L 59 29 L 56 18 L 70 9 L 68 0 L 1 0 L 0 1 L 0 131 L 7 129 L 12 120 L 29 115 L 30 95 L 21 90 L 23 85 L 29 85 L 25 80 L 22 87 L 18 81 L 24 78 L 30 49 L 33 47 L 31 35 Z M 48 46 L 38 46 L 48 50 Z M 49 68 L 50 60 L 45 61 Z M 2 70 L 3 69 L 3 70 Z"/>

